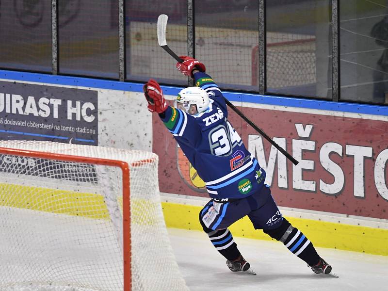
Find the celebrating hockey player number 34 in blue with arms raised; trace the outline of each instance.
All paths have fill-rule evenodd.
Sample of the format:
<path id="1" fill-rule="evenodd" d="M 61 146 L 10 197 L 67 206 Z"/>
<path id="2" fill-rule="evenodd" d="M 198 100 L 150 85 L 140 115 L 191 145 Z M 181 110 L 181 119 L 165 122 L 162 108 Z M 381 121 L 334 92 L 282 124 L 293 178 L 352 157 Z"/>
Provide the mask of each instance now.
<path id="1" fill-rule="evenodd" d="M 224 97 L 205 73 L 205 65 L 181 56 L 177 69 L 194 78 L 196 87 L 181 90 L 175 107 L 167 106 L 159 84 L 144 85 L 148 110 L 159 113 L 188 160 L 205 181 L 211 200 L 199 213 L 199 222 L 233 272 L 256 275 L 242 257 L 228 226 L 248 215 L 255 229 L 283 244 L 307 262 L 316 274 L 329 274 L 331 266 L 317 254 L 313 244 L 282 217 L 264 184 L 265 171 L 248 152 L 228 121 Z"/>

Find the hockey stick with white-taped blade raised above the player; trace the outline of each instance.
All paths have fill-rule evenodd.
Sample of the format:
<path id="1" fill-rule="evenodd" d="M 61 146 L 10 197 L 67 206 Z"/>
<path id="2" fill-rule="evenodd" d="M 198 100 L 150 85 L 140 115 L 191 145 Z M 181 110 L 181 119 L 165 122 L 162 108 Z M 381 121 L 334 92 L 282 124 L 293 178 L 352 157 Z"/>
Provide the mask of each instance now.
<path id="1" fill-rule="evenodd" d="M 161 14 L 158 17 L 157 31 L 158 31 L 158 43 L 159 46 L 162 47 L 165 51 L 167 51 L 177 62 L 182 63 L 183 60 L 178 57 L 178 55 L 173 52 L 168 46 L 166 42 L 166 27 L 167 27 L 168 16 L 165 14 Z M 267 141 L 269 141 L 273 146 L 275 146 L 283 155 L 286 156 L 294 165 L 297 165 L 299 162 L 296 161 L 285 149 L 276 144 L 272 138 L 270 138 L 263 130 L 259 129 L 259 127 L 254 124 L 248 117 L 246 117 L 236 106 L 234 106 L 228 99 L 225 99 L 226 105 L 228 105 L 235 113 L 240 115 L 240 117 L 245 120 L 251 127 L 253 127 L 256 131 L 260 133 Z"/>

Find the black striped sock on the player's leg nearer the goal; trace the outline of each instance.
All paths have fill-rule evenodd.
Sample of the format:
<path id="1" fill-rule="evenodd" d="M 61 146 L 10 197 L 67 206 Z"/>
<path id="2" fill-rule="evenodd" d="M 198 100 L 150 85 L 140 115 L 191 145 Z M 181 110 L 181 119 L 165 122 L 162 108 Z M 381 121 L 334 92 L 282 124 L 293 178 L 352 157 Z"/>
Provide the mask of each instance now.
<path id="1" fill-rule="evenodd" d="M 234 260 L 241 254 L 229 229 L 213 230 L 208 233 L 211 243 L 228 260 Z"/>

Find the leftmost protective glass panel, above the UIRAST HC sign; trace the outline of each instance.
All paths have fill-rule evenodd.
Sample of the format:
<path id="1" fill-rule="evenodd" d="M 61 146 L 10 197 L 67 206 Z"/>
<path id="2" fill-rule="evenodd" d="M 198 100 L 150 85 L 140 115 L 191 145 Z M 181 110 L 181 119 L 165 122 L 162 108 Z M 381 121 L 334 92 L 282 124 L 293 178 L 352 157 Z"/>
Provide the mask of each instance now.
<path id="1" fill-rule="evenodd" d="M 0 1 L 0 67 L 51 72 L 51 0 Z"/>

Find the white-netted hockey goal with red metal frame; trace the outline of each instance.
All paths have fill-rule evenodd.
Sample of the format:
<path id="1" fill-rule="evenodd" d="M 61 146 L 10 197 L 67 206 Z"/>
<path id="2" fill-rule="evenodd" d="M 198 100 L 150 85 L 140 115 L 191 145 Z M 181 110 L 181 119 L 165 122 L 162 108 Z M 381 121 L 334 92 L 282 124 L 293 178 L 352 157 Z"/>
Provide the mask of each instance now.
<path id="1" fill-rule="evenodd" d="M 0 141 L 0 290 L 186 291 L 151 152 Z"/>

